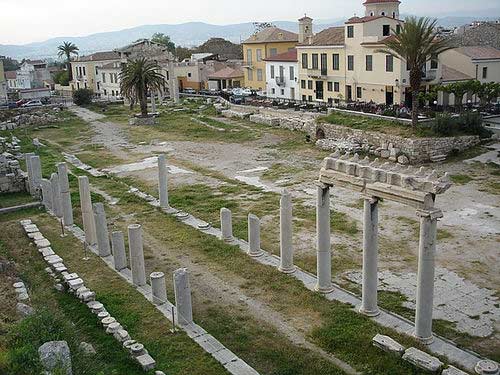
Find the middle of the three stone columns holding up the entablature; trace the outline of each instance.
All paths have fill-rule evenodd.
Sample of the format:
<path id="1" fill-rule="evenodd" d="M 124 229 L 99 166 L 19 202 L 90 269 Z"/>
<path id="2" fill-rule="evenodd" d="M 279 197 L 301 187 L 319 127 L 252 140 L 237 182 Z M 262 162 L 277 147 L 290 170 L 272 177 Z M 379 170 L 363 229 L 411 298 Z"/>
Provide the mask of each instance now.
<path id="1" fill-rule="evenodd" d="M 378 199 L 365 198 L 363 222 L 363 288 L 360 312 L 377 316 Z"/>

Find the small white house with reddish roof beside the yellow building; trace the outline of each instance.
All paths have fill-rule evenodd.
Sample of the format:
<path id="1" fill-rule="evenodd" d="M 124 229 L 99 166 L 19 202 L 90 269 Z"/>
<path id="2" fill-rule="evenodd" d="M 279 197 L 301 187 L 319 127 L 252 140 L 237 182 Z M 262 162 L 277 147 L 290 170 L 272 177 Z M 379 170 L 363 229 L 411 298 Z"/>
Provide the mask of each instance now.
<path id="1" fill-rule="evenodd" d="M 266 95 L 269 98 L 298 99 L 299 64 L 297 50 L 292 49 L 264 59 L 266 62 Z"/>

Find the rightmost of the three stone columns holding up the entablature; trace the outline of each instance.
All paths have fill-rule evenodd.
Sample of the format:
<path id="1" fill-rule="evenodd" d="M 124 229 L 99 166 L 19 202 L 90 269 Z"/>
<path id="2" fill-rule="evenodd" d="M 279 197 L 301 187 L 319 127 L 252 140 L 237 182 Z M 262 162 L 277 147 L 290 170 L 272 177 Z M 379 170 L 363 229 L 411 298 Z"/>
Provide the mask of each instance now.
<path id="1" fill-rule="evenodd" d="M 432 336 L 432 309 L 434 303 L 434 268 L 436 255 L 437 220 L 441 211 L 417 211 L 420 216 L 420 243 L 418 249 L 417 309 L 415 336 L 430 344 Z"/>

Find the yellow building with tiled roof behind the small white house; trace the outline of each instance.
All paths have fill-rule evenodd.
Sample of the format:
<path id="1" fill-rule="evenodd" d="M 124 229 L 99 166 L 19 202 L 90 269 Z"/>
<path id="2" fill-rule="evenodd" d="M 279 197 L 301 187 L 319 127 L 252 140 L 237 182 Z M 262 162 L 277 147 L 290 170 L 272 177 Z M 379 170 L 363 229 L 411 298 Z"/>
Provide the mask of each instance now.
<path id="1" fill-rule="evenodd" d="M 266 62 L 264 59 L 287 52 L 297 45 L 296 33 L 277 27 L 268 27 L 243 42 L 245 86 L 253 90 L 266 88 Z"/>

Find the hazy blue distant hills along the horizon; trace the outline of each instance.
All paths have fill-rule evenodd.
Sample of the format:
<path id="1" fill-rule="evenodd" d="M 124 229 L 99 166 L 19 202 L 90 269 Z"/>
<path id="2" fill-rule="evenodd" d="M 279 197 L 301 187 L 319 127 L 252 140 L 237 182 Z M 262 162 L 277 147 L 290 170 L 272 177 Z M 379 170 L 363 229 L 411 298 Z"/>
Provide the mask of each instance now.
<path id="1" fill-rule="evenodd" d="M 478 17 L 446 17 L 442 19 L 443 26 L 459 26 L 470 23 Z M 484 17 L 482 17 L 484 19 Z M 454 22 L 453 20 L 456 20 Z M 343 19 L 318 20 L 315 22 L 315 31 L 321 31 L 327 27 L 339 26 Z M 276 21 L 274 24 L 285 30 L 297 32 L 297 22 Z M 248 38 L 254 30 L 251 22 L 233 25 L 211 25 L 203 22 L 189 22 L 178 25 L 145 25 L 130 29 L 112 31 L 106 33 L 92 34 L 84 37 L 59 37 L 44 42 L 29 43 L 25 45 L 1 45 L 0 55 L 10 56 L 17 59 L 22 58 L 49 58 L 55 57 L 57 46 L 64 40 L 75 43 L 80 48 L 81 54 L 89 54 L 96 51 L 110 50 L 124 46 L 141 38 L 149 38 L 156 32 L 169 35 L 177 45 L 193 47 L 198 46 L 210 38 L 224 38 L 233 43 Z"/>

